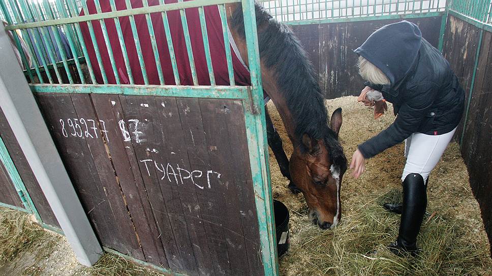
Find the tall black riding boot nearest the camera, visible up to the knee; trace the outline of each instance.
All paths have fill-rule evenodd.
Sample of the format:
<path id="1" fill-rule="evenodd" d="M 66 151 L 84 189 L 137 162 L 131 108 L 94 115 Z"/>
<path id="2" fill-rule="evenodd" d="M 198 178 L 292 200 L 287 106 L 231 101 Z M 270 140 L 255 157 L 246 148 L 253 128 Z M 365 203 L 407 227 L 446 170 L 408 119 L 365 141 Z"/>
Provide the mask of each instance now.
<path id="1" fill-rule="evenodd" d="M 415 255 L 418 251 L 417 235 L 427 206 L 426 188 L 419 174 L 410 174 L 403 182 L 402 219 L 398 238 L 388 246 L 388 249 L 396 255 L 404 252 Z"/>

